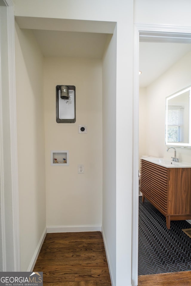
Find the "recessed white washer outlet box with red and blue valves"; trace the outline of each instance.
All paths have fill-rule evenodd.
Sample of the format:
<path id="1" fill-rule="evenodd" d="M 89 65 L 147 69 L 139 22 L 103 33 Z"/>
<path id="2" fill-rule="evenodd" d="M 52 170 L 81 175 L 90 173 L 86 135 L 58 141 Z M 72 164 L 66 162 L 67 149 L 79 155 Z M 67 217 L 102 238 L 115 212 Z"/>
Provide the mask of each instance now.
<path id="1" fill-rule="evenodd" d="M 69 166 L 68 150 L 51 150 L 51 166 Z"/>

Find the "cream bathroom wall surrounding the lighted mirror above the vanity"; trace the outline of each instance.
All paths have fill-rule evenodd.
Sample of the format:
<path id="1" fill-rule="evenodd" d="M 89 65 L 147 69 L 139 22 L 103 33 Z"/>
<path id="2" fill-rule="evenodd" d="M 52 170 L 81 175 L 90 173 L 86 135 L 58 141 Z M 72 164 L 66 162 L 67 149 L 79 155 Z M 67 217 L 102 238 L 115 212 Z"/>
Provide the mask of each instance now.
<path id="1" fill-rule="evenodd" d="M 164 43 L 165 45 L 165 43 Z M 151 155 L 171 159 L 174 151 L 165 146 L 165 98 L 191 84 L 190 77 L 191 52 L 181 58 L 169 70 L 145 89 L 140 89 L 140 121 L 142 137 L 140 137 L 140 156 Z M 146 114 L 146 119 L 145 119 Z M 143 148 L 142 142 L 146 142 Z M 176 148 L 177 158 L 191 162 L 191 149 Z"/>

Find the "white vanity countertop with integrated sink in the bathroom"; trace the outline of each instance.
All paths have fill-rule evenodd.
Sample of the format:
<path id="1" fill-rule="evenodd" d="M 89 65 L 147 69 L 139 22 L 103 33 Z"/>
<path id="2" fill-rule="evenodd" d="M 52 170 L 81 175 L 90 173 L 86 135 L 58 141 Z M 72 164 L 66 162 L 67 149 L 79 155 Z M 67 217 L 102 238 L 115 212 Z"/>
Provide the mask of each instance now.
<path id="1" fill-rule="evenodd" d="M 167 168 L 190 168 L 191 164 L 186 162 L 174 162 L 166 158 L 155 158 L 155 157 L 143 157 L 141 158 L 146 161 L 153 162 Z"/>

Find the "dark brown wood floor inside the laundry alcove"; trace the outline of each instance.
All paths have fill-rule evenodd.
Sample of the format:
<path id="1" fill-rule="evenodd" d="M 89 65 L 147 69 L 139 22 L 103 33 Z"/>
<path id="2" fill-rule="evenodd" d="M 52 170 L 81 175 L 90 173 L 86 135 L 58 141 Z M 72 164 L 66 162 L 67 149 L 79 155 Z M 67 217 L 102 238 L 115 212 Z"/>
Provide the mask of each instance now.
<path id="1" fill-rule="evenodd" d="M 33 271 L 43 271 L 43 285 L 111 286 L 99 231 L 48 233 Z"/>

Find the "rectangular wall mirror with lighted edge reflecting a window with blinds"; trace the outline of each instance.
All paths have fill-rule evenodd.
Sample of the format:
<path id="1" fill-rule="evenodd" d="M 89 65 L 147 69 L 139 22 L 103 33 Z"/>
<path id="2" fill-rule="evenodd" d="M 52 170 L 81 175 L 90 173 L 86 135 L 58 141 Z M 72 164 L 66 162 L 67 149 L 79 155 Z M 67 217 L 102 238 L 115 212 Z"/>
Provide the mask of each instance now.
<path id="1" fill-rule="evenodd" d="M 166 98 L 165 144 L 191 147 L 191 86 Z"/>

